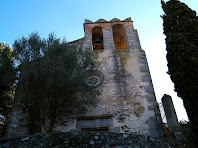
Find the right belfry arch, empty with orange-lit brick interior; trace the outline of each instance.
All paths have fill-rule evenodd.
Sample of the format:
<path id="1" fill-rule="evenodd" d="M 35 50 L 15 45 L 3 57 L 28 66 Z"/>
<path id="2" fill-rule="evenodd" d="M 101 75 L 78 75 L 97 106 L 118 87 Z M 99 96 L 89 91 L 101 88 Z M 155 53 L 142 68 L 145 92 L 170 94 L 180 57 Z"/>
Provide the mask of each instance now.
<path id="1" fill-rule="evenodd" d="M 122 24 L 112 27 L 115 49 L 127 49 L 126 29 Z"/>

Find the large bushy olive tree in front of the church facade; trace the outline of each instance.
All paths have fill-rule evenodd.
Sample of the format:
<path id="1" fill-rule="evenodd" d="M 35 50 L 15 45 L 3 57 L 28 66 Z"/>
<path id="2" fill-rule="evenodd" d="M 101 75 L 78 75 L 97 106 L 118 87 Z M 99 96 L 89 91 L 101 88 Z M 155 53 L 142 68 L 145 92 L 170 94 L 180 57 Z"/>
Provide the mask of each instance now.
<path id="1" fill-rule="evenodd" d="M 97 67 L 90 51 L 37 33 L 16 40 L 14 51 L 21 64 L 17 97 L 30 113 L 29 133 L 40 132 L 41 126 L 51 132 L 63 118 L 95 105 L 98 90 L 84 80 L 86 70 Z"/>

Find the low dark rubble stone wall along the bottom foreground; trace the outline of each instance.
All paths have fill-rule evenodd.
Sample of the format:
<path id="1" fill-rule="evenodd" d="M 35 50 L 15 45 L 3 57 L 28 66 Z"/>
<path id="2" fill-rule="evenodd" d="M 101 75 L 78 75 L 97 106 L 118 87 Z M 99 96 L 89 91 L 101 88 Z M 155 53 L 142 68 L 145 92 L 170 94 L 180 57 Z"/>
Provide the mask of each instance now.
<path id="1" fill-rule="evenodd" d="M 178 145 L 174 139 L 160 139 L 149 136 L 105 132 L 69 132 L 0 138 L 0 148 L 8 147 L 175 148 Z"/>

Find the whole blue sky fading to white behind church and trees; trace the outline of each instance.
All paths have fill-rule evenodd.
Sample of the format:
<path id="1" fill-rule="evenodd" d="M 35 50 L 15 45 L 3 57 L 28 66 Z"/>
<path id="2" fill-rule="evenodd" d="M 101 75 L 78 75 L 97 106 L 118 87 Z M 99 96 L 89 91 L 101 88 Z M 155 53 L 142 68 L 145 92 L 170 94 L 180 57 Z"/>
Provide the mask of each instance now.
<path id="1" fill-rule="evenodd" d="M 181 0 L 198 12 L 198 0 Z M 131 17 L 145 50 L 158 102 L 164 93 L 172 96 L 179 120 L 187 119 L 182 100 L 174 93 L 166 74 L 166 51 L 160 0 L 1 0 L 0 42 L 13 44 L 38 31 L 42 37 L 55 32 L 67 41 L 84 36 L 84 19 L 107 21 Z"/>

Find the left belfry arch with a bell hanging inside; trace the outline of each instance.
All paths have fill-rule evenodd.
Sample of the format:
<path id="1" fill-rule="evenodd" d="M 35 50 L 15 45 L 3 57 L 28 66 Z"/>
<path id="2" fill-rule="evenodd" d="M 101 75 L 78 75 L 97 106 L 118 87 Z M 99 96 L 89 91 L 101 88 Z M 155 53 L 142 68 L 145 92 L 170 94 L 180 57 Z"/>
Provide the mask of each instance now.
<path id="1" fill-rule="evenodd" d="M 103 50 L 103 32 L 102 27 L 96 26 L 92 29 L 92 46 L 93 50 Z"/>

